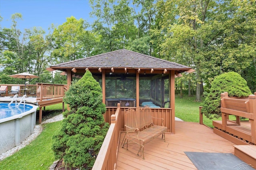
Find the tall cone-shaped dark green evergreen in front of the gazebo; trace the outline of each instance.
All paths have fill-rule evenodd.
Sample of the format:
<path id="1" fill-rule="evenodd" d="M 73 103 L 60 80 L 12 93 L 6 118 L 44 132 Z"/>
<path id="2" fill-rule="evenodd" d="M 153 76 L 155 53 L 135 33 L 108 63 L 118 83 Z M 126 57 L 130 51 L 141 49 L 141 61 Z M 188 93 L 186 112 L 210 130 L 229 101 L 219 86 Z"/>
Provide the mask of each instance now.
<path id="1" fill-rule="evenodd" d="M 63 112 L 61 128 L 53 136 L 52 150 L 56 159 L 80 169 L 92 168 L 108 131 L 102 89 L 90 71 L 73 81 L 63 101 L 70 110 Z"/>

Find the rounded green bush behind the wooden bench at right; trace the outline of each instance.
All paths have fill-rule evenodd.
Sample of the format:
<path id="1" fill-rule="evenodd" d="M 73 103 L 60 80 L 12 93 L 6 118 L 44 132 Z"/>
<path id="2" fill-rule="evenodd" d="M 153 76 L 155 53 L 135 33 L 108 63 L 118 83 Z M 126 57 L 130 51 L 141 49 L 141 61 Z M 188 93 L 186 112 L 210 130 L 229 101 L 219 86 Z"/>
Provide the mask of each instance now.
<path id="1" fill-rule="evenodd" d="M 216 76 L 212 81 L 210 92 L 203 103 L 202 113 L 208 118 L 220 117 L 220 94 L 228 92 L 228 96 L 248 97 L 251 93 L 246 80 L 236 72 L 227 72 Z"/>

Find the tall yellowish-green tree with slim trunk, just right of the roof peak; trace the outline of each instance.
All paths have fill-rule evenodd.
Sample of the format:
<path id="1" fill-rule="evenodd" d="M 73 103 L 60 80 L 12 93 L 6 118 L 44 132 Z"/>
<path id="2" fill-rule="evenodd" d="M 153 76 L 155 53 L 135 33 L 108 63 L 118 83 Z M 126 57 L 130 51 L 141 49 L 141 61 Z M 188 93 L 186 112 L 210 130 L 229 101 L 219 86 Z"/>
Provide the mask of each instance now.
<path id="1" fill-rule="evenodd" d="M 206 48 L 203 37 L 207 34 L 202 30 L 206 24 L 206 11 L 210 8 L 209 0 L 168 0 L 165 4 L 164 9 L 160 8 L 161 12 L 165 11 L 164 14 L 162 12 L 165 20 L 162 21 L 161 29 L 166 33 L 161 53 L 164 58 L 196 68 L 196 101 L 200 101 L 201 63 L 204 61 L 203 51 Z"/>

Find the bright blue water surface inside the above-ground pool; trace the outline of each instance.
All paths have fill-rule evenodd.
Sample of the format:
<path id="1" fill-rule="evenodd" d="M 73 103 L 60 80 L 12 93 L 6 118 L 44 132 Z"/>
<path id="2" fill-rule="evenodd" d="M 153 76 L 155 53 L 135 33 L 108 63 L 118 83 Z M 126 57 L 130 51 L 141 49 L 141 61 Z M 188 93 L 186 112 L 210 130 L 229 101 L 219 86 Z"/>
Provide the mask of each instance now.
<path id="1" fill-rule="evenodd" d="M 8 106 L 8 103 L 0 103 L 0 119 L 18 115 L 20 113 L 29 111 L 33 108 L 32 106 L 27 104 L 25 104 L 25 107 L 24 104 L 20 104 L 19 107 L 16 107 L 16 105 L 17 104 L 13 103 L 10 106 Z"/>

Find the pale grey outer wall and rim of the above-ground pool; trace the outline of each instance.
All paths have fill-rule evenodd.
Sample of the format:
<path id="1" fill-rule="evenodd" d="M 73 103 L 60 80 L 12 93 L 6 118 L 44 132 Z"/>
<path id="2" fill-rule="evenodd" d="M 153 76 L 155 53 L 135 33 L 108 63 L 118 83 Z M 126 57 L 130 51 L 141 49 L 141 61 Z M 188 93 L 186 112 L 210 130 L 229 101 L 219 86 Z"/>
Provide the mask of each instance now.
<path id="1" fill-rule="evenodd" d="M 36 109 L 32 109 L 5 119 L 0 119 L 0 154 L 19 145 L 34 132 Z"/>

